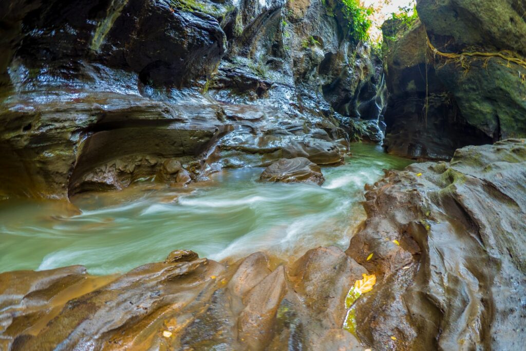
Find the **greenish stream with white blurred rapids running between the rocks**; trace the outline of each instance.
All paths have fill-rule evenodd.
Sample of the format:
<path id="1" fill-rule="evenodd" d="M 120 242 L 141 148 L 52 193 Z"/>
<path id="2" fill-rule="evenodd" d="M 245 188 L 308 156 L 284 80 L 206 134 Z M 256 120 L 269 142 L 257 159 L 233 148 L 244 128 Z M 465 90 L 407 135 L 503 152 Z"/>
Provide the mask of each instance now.
<path id="1" fill-rule="evenodd" d="M 322 169 L 323 186 L 259 182 L 261 168 L 214 174 L 189 188 L 140 185 L 56 201 L 0 203 L 0 272 L 81 264 L 126 272 L 175 249 L 213 259 L 258 250 L 291 259 L 320 245 L 346 248 L 365 219 L 365 184 L 411 161 L 353 144 L 352 157 Z"/>

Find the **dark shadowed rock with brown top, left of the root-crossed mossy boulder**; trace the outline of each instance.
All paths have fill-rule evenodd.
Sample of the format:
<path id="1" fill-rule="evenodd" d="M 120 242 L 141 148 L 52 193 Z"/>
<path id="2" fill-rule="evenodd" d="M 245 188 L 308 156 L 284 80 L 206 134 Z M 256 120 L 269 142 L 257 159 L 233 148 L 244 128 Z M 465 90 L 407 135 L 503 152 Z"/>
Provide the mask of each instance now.
<path id="1" fill-rule="evenodd" d="M 392 30 L 386 22 L 385 35 Z M 386 137 L 390 154 L 426 159 L 450 159 L 465 145 L 492 141 L 459 114 L 446 85 L 437 77 L 427 57 L 426 28 L 417 20 L 400 38 L 390 42 L 387 54 L 388 103 L 385 111 Z"/>

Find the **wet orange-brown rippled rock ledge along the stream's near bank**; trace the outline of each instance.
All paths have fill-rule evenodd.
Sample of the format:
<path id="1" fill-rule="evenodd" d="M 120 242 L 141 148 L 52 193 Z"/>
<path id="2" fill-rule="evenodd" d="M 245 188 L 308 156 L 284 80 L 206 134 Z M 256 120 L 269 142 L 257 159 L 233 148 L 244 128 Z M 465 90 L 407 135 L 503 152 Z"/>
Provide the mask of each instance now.
<path id="1" fill-rule="evenodd" d="M 361 349 L 341 323 L 362 267 L 335 247 L 269 267 L 262 253 L 227 266 L 177 251 L 120 277 L 80 266 L 3 273 L 0 347 Z"/>

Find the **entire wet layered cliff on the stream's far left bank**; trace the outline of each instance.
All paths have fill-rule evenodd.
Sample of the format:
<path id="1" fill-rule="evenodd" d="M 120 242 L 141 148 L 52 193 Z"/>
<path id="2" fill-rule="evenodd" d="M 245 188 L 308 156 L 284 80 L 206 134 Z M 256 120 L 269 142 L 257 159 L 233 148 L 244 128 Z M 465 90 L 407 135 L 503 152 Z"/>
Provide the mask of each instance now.
<path id="1" fill-rule="evenodd" d="M 379 62 L 340 17 L 321 0 L 3 2 L 0 196 L 340 163 L 348 118 L 374 124 L 383 101 Z"/>

